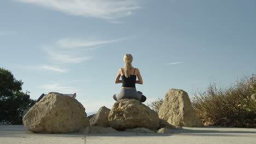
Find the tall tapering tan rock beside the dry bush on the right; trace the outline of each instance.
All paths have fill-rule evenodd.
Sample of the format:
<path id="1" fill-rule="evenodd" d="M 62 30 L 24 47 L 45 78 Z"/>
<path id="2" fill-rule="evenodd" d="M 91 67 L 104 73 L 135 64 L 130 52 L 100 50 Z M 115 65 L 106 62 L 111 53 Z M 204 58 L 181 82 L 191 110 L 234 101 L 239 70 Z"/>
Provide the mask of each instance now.
<path id="1" fill-rule="evenodd" d="M 170 89 L 166 93 L 158 115 L 176 127 L 203 126 L 194 112 L 188 93 L 181 89 Z"/>

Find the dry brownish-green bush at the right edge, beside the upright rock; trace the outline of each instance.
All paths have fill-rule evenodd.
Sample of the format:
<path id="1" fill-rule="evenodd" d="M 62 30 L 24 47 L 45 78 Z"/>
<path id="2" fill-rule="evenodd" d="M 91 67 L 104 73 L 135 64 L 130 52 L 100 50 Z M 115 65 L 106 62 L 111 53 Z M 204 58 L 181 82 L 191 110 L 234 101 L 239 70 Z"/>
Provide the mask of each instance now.
<path id="1" fill-rule="evenodd" d="M 228 88 L 210 84 L 192 99 L 194 110 L 205 125 L 255 127 L 256 76 L 245 76 Z"/>

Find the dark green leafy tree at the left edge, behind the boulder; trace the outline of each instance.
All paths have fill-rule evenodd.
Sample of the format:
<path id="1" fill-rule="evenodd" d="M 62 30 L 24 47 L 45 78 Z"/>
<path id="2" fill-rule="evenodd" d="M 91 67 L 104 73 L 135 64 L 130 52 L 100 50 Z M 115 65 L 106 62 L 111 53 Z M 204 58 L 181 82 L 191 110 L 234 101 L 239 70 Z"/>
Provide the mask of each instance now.
<path id="1" fill-rule="evenodd" d="M 11 71 L 0 68 L 0 122 L 22 124 L 24 111 L 36 103 L 29 92 L 21 91 L 22 85 Z"/>

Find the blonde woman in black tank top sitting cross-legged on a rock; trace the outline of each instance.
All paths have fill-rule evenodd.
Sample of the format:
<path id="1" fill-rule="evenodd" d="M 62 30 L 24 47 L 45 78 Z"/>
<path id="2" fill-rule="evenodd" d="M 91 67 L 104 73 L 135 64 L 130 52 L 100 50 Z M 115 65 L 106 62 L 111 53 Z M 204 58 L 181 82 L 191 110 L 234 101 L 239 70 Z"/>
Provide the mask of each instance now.
<path id="1" fill-rule="evenodd" d="M 115 83 L 123 83 L 121 87 L 121 91 L 117 94 L 113 95 L 114 100 L 120 99 L 137 99 L 141 102 L 146 101 L 146 97 L 142 95 L 142 92 L 137 92 L 135 83 L 141 84 L 143 83 L 141 74 L 139 73 L 138 68 L 132 67 L 132 55 L 126 54 L 124 55 L 124 68 L 120 68 L 118 70 L 117 77 L 115 77 Z M 138 76 L 138 80 L 136 78 Z M 122 80 L 120 80 L 120 77 Z"/>

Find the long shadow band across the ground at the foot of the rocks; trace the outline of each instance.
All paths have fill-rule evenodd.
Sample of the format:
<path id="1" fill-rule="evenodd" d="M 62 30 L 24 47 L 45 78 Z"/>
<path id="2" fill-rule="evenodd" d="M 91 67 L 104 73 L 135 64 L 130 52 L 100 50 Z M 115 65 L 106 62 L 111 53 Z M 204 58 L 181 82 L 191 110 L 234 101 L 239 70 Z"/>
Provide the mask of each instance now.
<path id="1" fill-rule="evenodd" d="M 246 131 L 248 130 L 248 131 Z M 81 136 L 120 136 L 120 137 L 133 137 L 133 136 L 172 136 L 172 135 L 200 135 L 200 136 L 234 136 L 234 134 L 253 134 L 256 129 L 246 128 L 227 128 L 227 127 L 202 127 L 202 128 L 186 128 L 173 130 L 174 134 L 145 134 L 145 133 L 132 133 L 126 131 L 118 131 L 118 133 L 110 134 L 82 134 L 82 133 L 69 133 L 69 134 L 49 134 L 49 133 L 32 133 L 28 131 L 24 125 L 1 125 L 0 137 L 20 137 L 22 135 L 34 136 L 60 136 L 60 137 L 81 137 Z M 240 136 L 240 135 L 236 135 Z"/>

